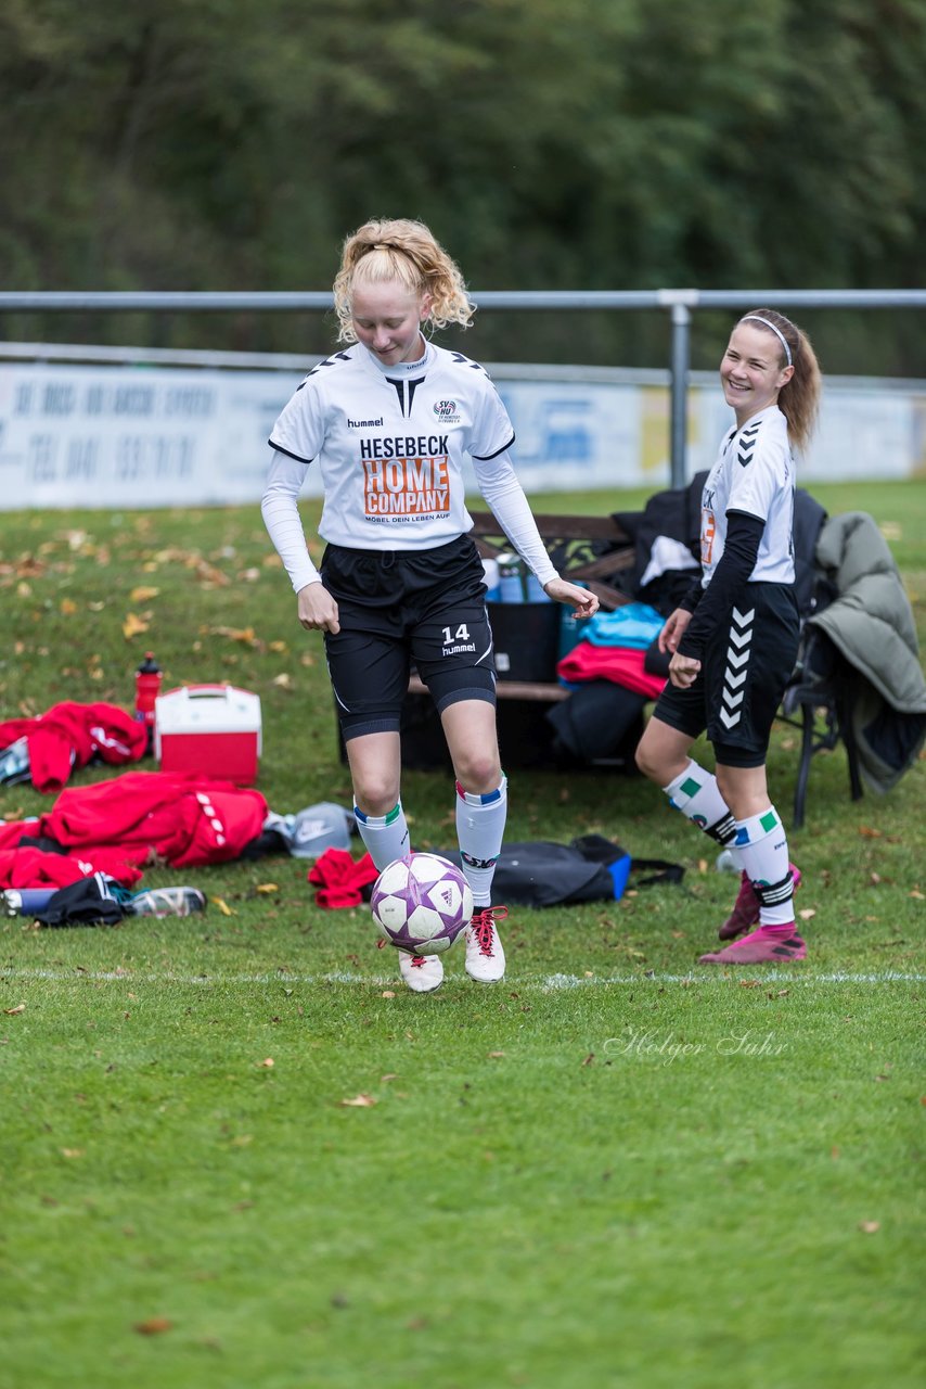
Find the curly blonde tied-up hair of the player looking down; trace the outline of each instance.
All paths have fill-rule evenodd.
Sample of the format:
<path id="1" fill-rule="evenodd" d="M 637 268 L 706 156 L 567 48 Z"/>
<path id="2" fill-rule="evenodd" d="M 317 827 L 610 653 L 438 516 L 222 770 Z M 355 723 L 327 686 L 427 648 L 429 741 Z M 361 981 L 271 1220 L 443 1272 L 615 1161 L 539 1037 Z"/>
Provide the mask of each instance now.
<path id="1" fill-rule="evenodd" d="M 428 321 L 435 328 L 458 324 L 469 328 L 476 306 L 469 301 L 460 267 L 423 222 L 408 218 L 364 222 L 346 238 L 335 276 L 337 342 L 354 343 L 351 322 L 354 285 L 398 281 L 412 294 L 430 293 Z"/>

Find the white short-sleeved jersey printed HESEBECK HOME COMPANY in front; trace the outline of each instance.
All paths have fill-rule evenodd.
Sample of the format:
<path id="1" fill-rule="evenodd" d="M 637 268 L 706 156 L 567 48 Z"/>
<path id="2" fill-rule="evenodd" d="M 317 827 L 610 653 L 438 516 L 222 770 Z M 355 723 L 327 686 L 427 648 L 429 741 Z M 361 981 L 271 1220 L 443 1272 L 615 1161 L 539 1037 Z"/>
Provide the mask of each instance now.
<path id="1" fill-rule="evenodd" d="M 269 442 L 318 461 L 325 540 L 416 550 L 471 529 L 464 456 L 480 486 L 497 482 L 500 465 L 486 464 L 505 453 L 514 429 L 483 368 L 461 353 L 428 344 L 421 363 L 386 369 L 355 343 L 310 371 Z"/>

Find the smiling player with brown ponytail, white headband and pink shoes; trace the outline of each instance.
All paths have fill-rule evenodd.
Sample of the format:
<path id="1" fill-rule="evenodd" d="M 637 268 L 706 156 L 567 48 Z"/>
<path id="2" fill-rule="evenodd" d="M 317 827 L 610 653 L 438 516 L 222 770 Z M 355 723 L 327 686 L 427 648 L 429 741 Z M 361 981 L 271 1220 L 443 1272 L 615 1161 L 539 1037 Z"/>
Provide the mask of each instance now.
<path id="1" fill-rule="evenodd" d="M 802 449 L 812 432 L 820 372 L 807 335 L 773 308 L 757 308 L 730 335 L 721 385 L 736 425 L 704 485 L 702 576 L 659 636 L 672 656 L 669 683 L 637 765 L 741 868 L 736 906 L 719 929 L 733 943 L 698 963 L 775 964 L 807 954 L 794 924 L 800 874 L 769 799 L 765 757 L 797 656 L 791 446 Z M 689 756 L 705 729 L 714 775 Z"/>

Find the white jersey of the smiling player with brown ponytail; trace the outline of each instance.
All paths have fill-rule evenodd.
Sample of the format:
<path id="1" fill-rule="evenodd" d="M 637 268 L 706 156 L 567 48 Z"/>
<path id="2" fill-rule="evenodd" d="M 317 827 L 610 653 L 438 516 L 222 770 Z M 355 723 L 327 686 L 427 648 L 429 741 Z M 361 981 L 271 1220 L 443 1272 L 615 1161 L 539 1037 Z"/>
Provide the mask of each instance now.
<path id="1" fill-rule="evenodd" d="M 787 419 L 777 406 L 725 435 L 701 493 L 702 586 L 711 582 L 726 542 L 727 511 L 765 522 L 754 583 L 794 582 L 794 460 Z"/>

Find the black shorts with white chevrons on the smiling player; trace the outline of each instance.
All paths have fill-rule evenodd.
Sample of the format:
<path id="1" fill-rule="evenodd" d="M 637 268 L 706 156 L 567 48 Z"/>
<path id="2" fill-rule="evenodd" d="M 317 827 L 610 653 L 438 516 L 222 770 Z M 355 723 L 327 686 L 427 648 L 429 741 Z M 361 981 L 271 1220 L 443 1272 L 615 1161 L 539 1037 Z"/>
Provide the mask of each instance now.
<path id="1" fill-rule="evenodd" d="M 761 767 L 772 724 L 797 660 L 794 589 L 750 583 L 729 624 L 704 649 L 689 689 L 666 685 L 654 717 L 690 738 L 707 735 L 726 767 Z"/>

